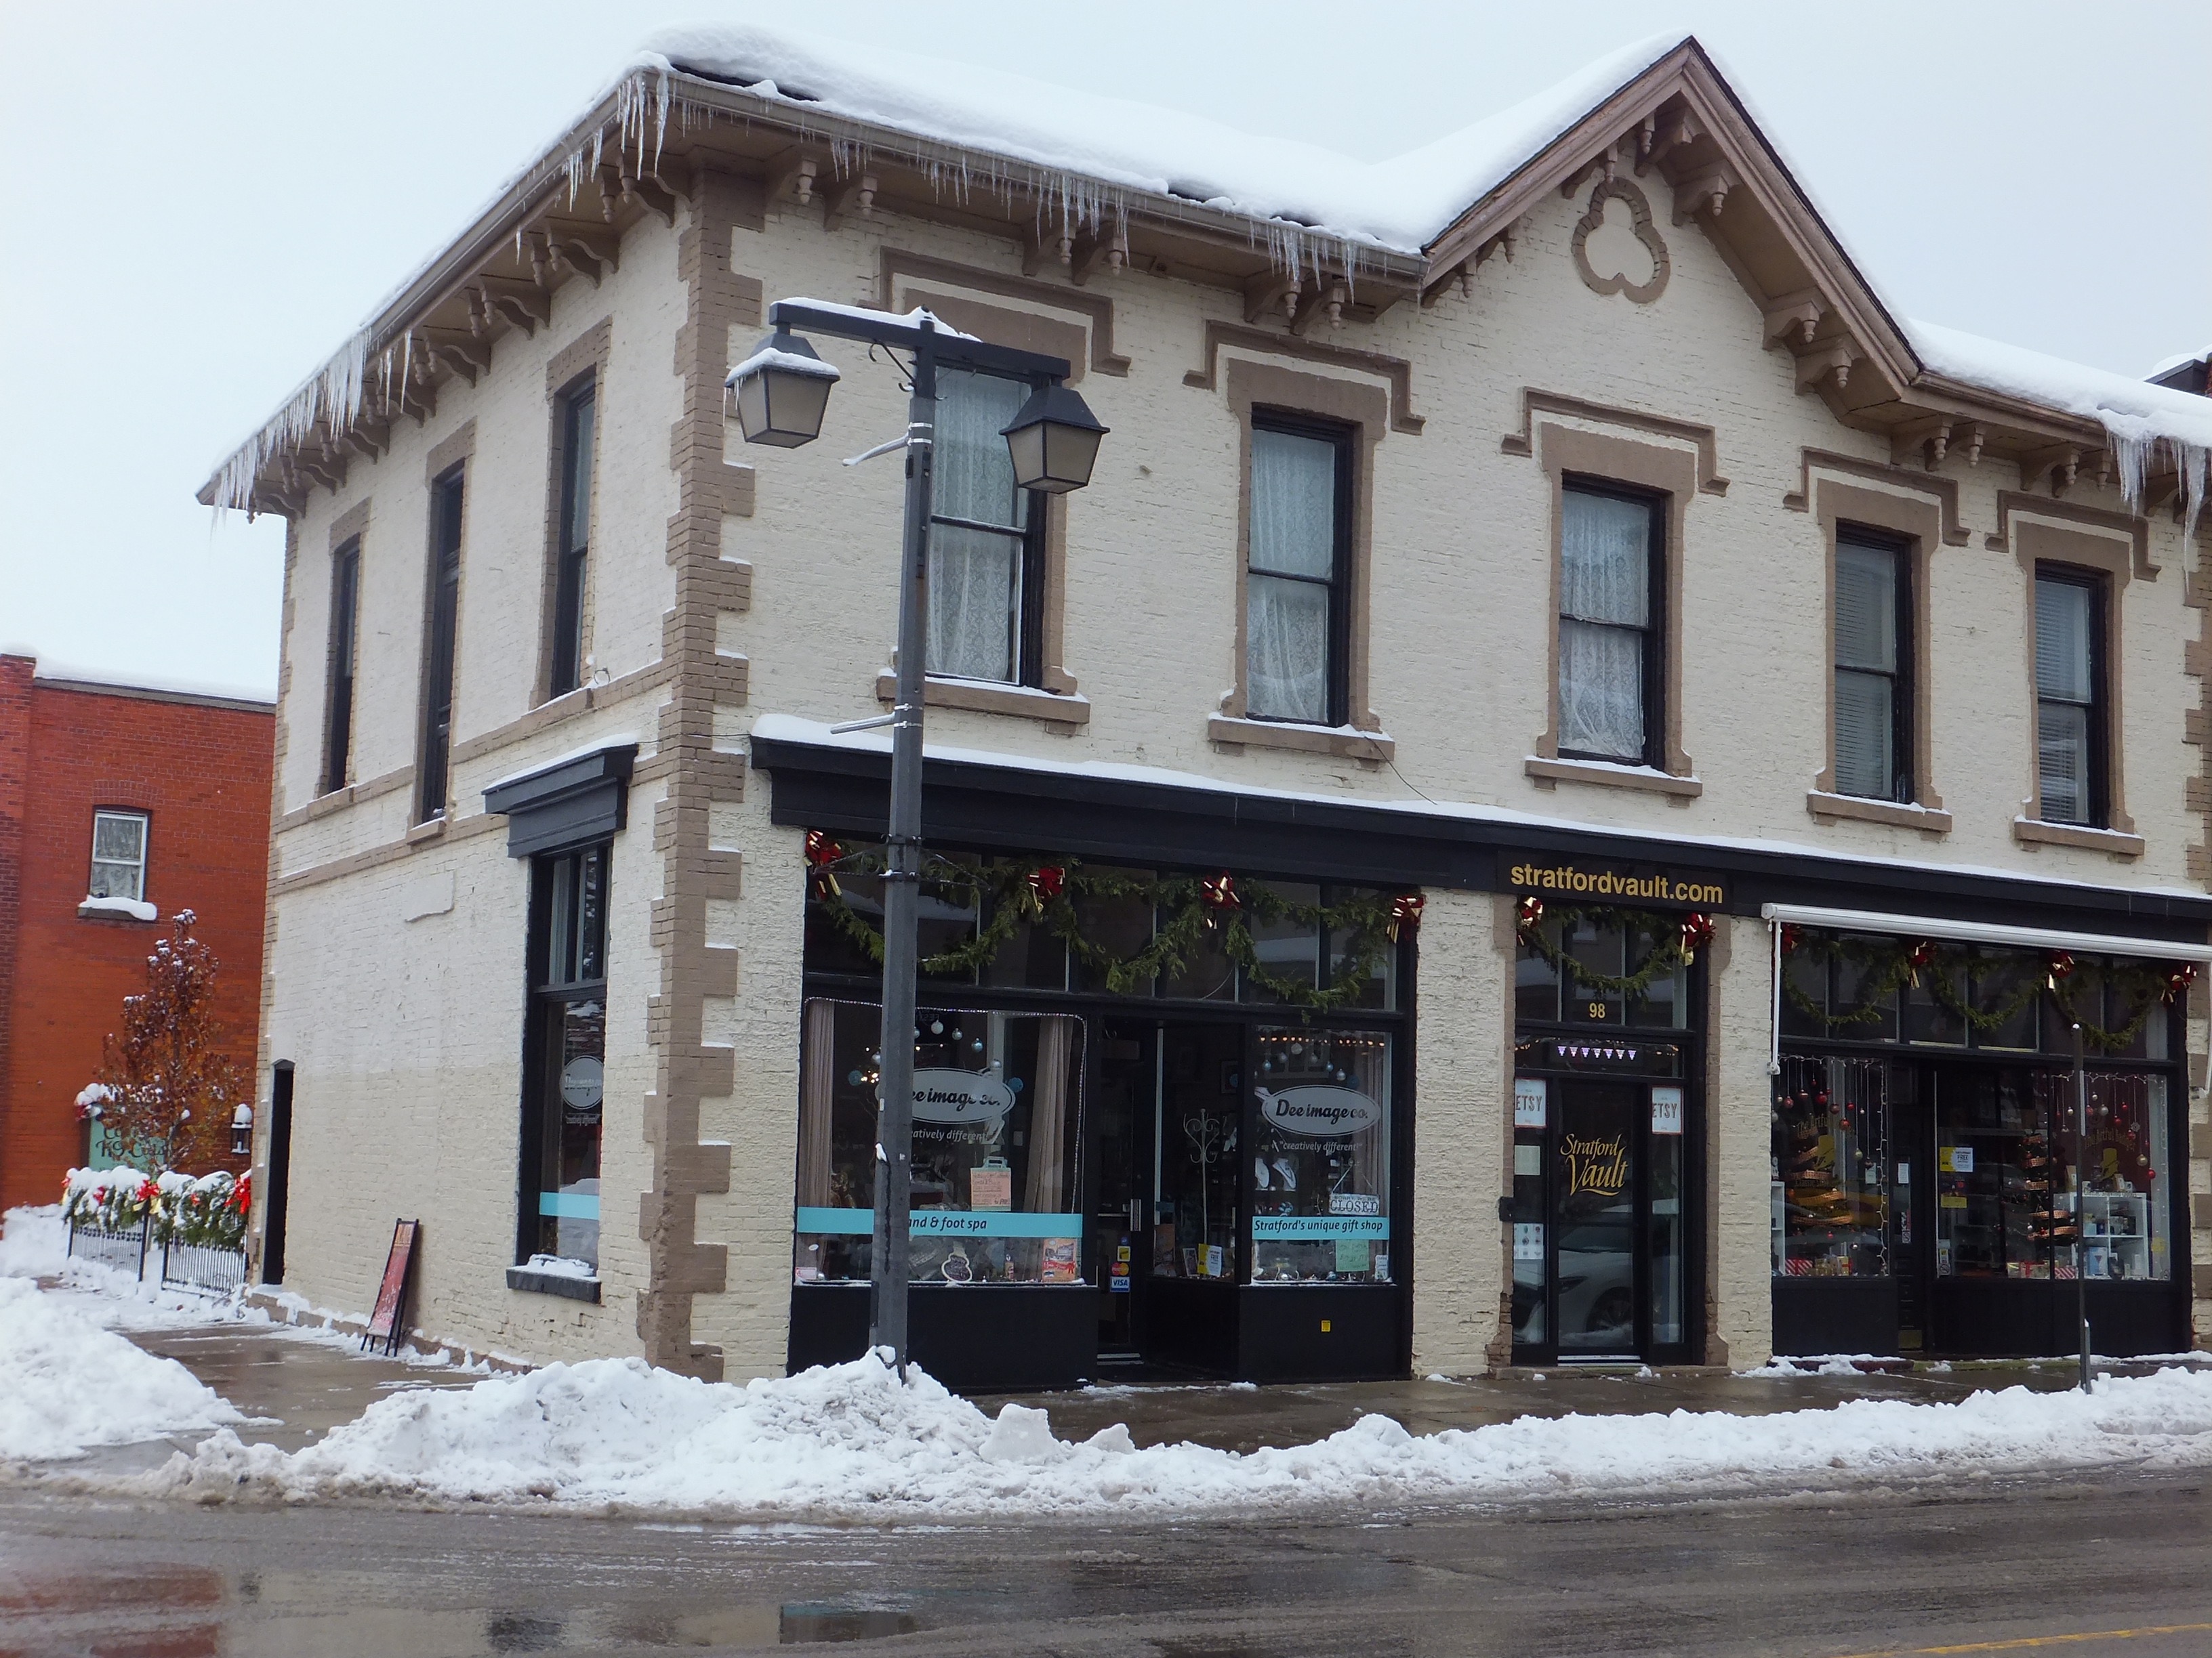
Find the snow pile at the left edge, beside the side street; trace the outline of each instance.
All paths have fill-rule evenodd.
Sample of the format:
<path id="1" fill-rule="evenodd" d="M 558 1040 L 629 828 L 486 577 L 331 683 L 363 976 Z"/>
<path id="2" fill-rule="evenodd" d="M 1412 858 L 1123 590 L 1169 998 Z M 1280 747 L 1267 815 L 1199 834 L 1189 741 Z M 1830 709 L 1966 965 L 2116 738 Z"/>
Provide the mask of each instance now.
<path id="1" fill-rule="evenodd" d="M 0 1278 L 0 1461 L 77 1457 L 241 1419 L 177 1360 L 100 1329 L 27 1278 Z"/>

